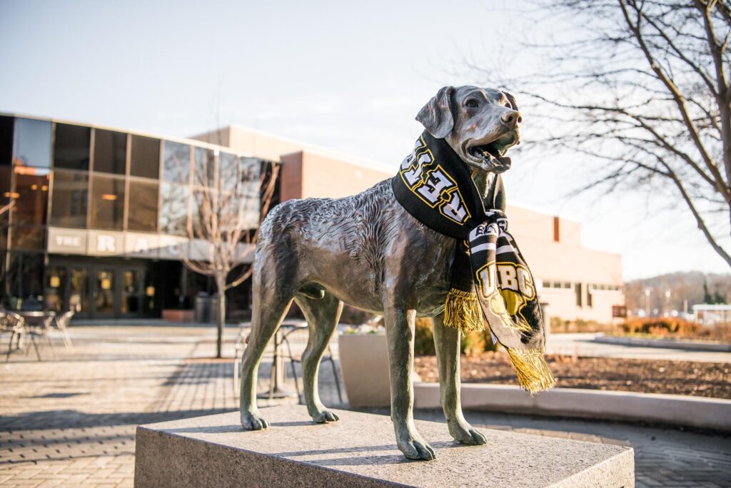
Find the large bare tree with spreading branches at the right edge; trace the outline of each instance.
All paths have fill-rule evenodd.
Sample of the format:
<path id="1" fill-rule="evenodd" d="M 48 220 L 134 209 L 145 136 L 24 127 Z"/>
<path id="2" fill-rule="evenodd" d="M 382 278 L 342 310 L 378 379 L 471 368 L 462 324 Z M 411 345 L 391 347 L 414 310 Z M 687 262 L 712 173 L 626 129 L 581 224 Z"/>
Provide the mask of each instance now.
<path id="1" fill-rule="evenodd" d="M 496 66 L 469 62 L 471 68 L 529 101 L 531 115 L 548 128 L 534 148 L 571 150 L 583 163 L 599 163 L 579 191 L 667 196 L 692 213 L 731 267 L 729 2 L 536 3 L 542 8 L 534 13 L 549 12 L 540 20 L 554 34 L 551 42 L 521 47 L 541 69 L 508 77 Z"/>

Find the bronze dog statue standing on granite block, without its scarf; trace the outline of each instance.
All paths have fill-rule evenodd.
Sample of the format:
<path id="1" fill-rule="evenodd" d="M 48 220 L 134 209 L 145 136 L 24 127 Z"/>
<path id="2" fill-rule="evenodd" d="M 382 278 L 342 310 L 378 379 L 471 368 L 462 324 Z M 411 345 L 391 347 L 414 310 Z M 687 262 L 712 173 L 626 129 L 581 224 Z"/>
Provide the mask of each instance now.
<path id="1" fill-rule="evenodd" d="M 515 99 L 491 88 L 444 87 L 417 115 L 471 169 L 487 194 L 493 175 L 510 167 L 504 151 L 518 143 Z M 484 188 L 484 190 L 483 190 Z M 343 302 L 385 318 L 390 363 L 391 419 L 398 449 L 432 460 L 434 450 L 414 427 L 411 372 L 414 319 L 433 317 L 442 408 L 450 434 L 464 444 L 485 436 L 466 422 L 460 403 L 460 331 L 444 327 L 444 300 L 456 241 L 406 213 L 390 180 L 352 197 L 289 200 L 262 223 L 254 261 L 254 314 L 243 353 L 240 416 L 246 430 L 268 427 L 257 408 L 257 370 L 265 347 L 292 300 L 309 324 L 303 354 L 304 396 L 314 422 L 336 422 L 317 393 L 320 359 Z"/>

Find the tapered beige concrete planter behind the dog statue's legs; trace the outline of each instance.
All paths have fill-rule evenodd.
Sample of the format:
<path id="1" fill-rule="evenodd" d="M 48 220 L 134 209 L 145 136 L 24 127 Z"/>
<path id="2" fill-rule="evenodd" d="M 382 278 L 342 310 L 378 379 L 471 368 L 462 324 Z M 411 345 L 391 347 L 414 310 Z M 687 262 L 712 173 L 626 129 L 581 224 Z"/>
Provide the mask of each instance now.
<path id="1" fill-rule="evenodd" d="M 385 334 L 338 336 L 340 368 L 351 407 L 390 405 Z"/>

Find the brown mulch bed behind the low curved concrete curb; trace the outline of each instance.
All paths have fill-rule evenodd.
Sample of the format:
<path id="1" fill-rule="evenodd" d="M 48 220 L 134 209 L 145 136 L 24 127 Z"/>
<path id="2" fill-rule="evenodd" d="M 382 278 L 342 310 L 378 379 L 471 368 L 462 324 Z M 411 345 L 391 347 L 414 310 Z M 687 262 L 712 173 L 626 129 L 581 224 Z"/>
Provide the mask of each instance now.
<path id="1" fill-rule="evenodd" d="M 546 356 L 557 386 L 620 390 L 624 392 L 688 394 L 731 399 L 731 364 L 611 357 Z M 439 381 L 436 357 L 414 360 L 423 381 Z M 518 384 L 510 358 L 504 352 L 462 357 L 465 383 Z"/>

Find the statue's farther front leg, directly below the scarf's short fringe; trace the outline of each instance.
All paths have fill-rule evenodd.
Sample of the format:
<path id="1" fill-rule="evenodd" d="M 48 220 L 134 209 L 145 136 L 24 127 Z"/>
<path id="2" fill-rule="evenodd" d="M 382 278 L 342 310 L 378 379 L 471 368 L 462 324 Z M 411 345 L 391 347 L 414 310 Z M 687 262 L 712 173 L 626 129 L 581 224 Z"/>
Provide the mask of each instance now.
<path id="1" fill-rule="evenodd" d="M 447 419 L 447 427 L 455 441 L 471 446 L 487 442 L 485 435 L 474 430 L 462 415 L 460 401 L 460 331 L 444 327 L 444 314 L 434 317 L 434 346 L 436 365 L 439 369 L 439 397 Z"/>

